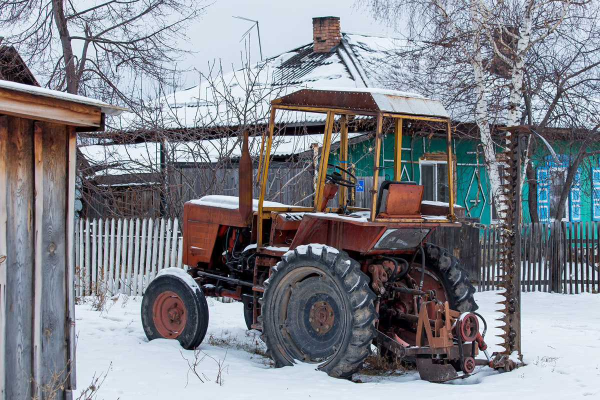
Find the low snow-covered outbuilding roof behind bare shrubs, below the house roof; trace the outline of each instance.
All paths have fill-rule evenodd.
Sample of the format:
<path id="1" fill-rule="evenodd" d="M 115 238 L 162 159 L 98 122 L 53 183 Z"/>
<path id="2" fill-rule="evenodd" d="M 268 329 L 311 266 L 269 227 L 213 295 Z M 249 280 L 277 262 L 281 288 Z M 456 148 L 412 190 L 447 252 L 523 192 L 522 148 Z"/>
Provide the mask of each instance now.
<path id="1" fill-rule="evenodd" d="M 349 132 L 349 139 L 364 136 L 364 132 Z M 258 158 L 262 137 L 250 137 L 248 145 L 251 157 Z M 340 142 L 340 134 L 333 133 L 332 145 Z M 323 134 L 301 136 L 275 136 L 272 143 L 273 157 L 287 157 L 310 150 L 317 143 L 323 146 Z M 197 140 L 193 142 L 167 143 L 170 163 L 217 163 L 224 158 L 237 160 L 242 154 L 242 142 L 238 137 Z M 156 142 L 130 145 L 80 146 L 83 157 L 91 167 L 97 167 L 96 176 L 152 173 L 160 170 L 160 145 Z"/>

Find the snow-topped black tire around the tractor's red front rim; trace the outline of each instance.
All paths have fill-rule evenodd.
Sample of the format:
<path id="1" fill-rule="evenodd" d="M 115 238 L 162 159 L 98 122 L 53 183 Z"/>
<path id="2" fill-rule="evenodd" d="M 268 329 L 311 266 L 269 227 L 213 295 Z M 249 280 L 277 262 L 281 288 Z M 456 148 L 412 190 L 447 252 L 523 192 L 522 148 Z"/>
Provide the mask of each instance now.
<path id="1" fill-rule="evenodd" d="M 175 339 L 181 347 L 194 350 L 202 343 L 208 329 L 208 304 L 202 289 L 191 276 L 186 275 L 187 272 L 182 269 L 167 268 L 150 282 L 142 299 L 142 326 L 148 340 Z M 161 334 L 161 315 L 153 309 L 167 293 L 172 294 L 171 297 L 177 296 L 178 302 L 181 300 L 185 312 L 184 326 L 172 335 L 174 337 Z M 162 330 L 164 332 L 164 327 Z"/>

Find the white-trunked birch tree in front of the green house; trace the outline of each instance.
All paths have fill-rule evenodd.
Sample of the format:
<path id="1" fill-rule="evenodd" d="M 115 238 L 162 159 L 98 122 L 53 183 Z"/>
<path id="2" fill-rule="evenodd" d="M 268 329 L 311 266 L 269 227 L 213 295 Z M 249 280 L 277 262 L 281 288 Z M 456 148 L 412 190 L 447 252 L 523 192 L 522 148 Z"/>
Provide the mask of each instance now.
<path id="1" fill-rule="evenodd" d="M 412 60 L 404 82 L 412 81 L 415 89 L 435 97 L 446 95 L 440 100 L 454 111 L 453 117 L 475 120 L 499 216 L 506 208 L 507 193 L 501 186 L 503 160 L 497 150 L 504 143 L 493 137 L 491 125 L 517 125 L 532 48 L 556 34 L 565 20 L 575 23 L 586 4 L 570 0 L 372 0 L 366 4 L 378 19 L 397 29 L 401 23 L 408 27 L 398 29 L 407 38 L 407 48 L 395 55 Z M 463 102 L 452 104 L 457 100 Z"/>

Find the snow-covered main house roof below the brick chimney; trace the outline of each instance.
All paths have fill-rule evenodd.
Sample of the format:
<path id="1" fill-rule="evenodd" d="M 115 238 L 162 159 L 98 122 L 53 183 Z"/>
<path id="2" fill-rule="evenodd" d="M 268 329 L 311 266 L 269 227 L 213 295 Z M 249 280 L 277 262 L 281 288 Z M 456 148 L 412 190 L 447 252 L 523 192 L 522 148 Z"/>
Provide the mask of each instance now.
<path id="1" fill-rule="evenodd" d="M 390 57 L 403 43 L 343 32 L 331 52 L 314 53 L 310 43 L 159 98 L 158 114 L 150 118 L 160 118 L 165 128 L 266 124 L 270 101 L 299 89 L 397 89 L 406 71 Z M 325 115 L 278 112 L 276 119 L 278 124 L 320 123 Z"/>

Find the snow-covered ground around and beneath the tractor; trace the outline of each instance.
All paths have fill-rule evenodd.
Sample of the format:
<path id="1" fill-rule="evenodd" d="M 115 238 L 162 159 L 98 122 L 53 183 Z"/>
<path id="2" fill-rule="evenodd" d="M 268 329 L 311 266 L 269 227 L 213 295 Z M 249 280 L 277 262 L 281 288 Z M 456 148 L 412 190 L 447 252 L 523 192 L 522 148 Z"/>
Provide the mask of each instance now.
<path id="1" fill-rule="evenodd" d="M 479 311 L 494 326 L 501 299 L 476 294 Z M 78 305 L 77 387 L 106 379 L 98 399 L 562 399 L 600 397 L 600 295 L 523 293 L 523 368 L 479 373 L 446 384 L 421 381 L 416 372 L 390 377 L 357 376 L 365 383 L 330 378 L 313 365 L 274 369 L 260 356 L 263 344 L 245 329 L 241 303 L 208 299 L 210 324 L 196 366 L 193 351 L 176 341 L 148 342 L 140 322 L 140 298 L 109 300 L 107 311 Z M 488 344 L 499 330 L 489 329 Z M 496 340 L 498 339 L 498 340 Z M 498 350 L 490 346 L 491 351 Z M 491 353 L 490 351 L 490 353 Z M 202 357 L 204 357 L 202 359 Z M 221 368 L 219 368 L 219 363 Z M 221 369 L 221 382 L 218 371 Z M 200 381 L 202 379 L 202 381 Z M 385 397 L 384 397 L 385 396 Z M 77 397 L 77 396 L 74 396 Z"/>

